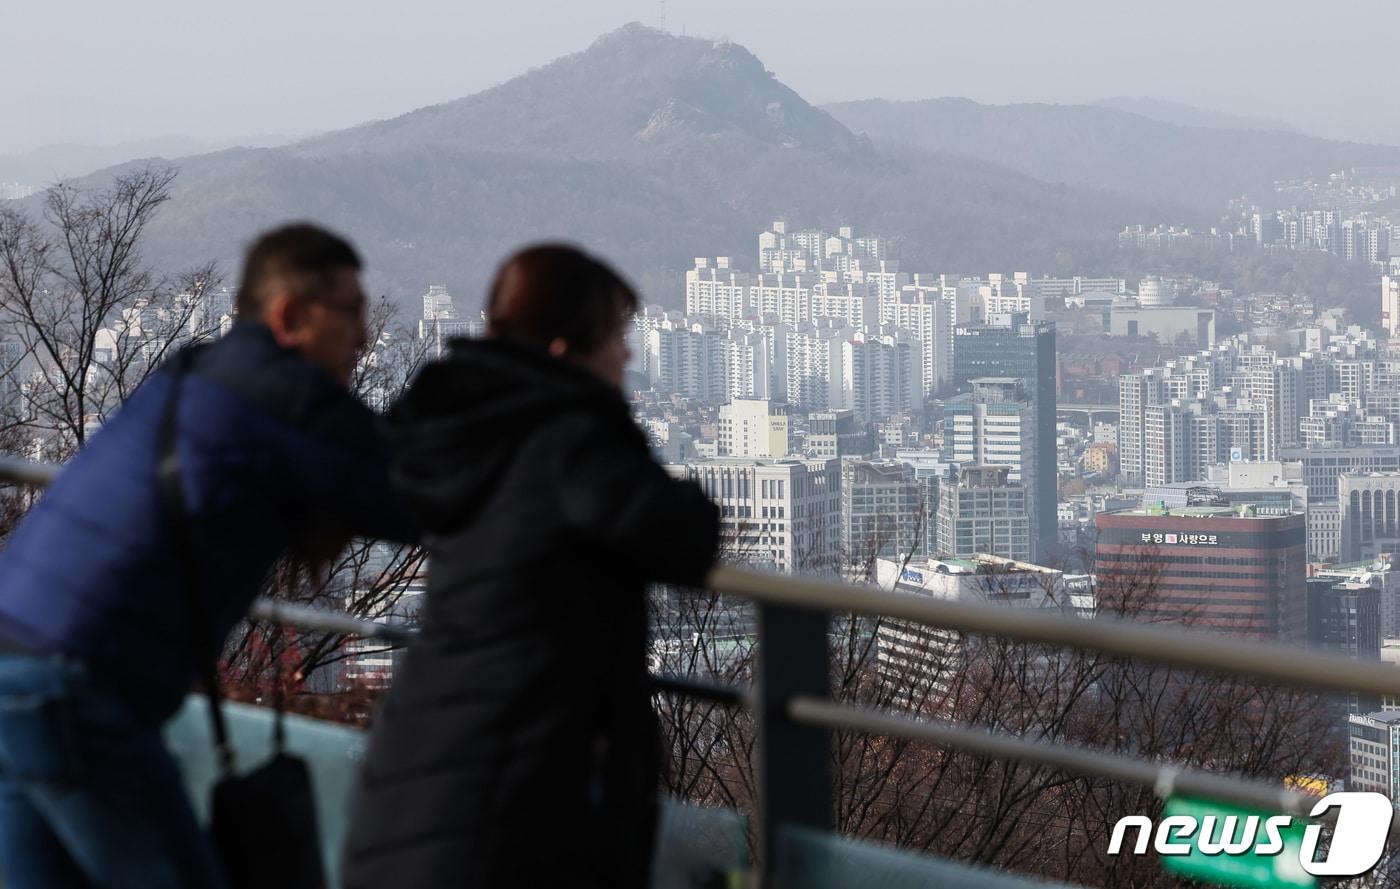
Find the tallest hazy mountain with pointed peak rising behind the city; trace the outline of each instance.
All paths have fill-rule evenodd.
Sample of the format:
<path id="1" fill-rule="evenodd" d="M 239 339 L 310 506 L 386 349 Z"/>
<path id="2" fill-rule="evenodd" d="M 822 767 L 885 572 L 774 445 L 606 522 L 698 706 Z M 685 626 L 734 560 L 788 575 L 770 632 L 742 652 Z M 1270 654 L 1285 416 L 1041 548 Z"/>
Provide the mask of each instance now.
<path id="1" fill-rule="evenodd" d="M 360 245 L 371 288 L 407 307 L 445 283 L 468 311 L 511 249 L 545 239 L 580 242 L 676 305 L 693 256 L 748 266 L 777 217 L 883 235 L 911 270 L 1046 273 L 1092 265 L 1127 223 L 1196 221 L 1170 202 L 876 148 L 742 46 L 640 25 L 461 99 L 179 165 L 148 230 L 154 263 L 237 269 L 258 230 L 312 218 Z"/>

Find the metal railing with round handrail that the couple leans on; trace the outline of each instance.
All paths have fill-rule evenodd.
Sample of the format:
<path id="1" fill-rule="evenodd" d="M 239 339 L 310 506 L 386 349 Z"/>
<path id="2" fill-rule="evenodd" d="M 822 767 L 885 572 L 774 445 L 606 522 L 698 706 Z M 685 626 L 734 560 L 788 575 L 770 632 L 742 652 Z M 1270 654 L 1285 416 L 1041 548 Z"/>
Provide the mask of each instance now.
<path id="1" fill-rule="evenodd" d="M 0 458 L 0 483 L 43 486 L 57 468 Z M 1301 689 L 1400 697 L 1400 669 L 1341 655 L 1250 643 L 1201 631 L 1042 610 L 888 592 L 869 585 L 718 567 L 715 592 L 752 601 L 757 610 L 752 690 L 657 678 L 661 693 L 706 697 L 755 711 L 763 885 L 773 885 L 778 837 L 785 827 L 832 830 L 832 732 L 857 729 L 984 756 L 1051 766 L 1152 788 L 1159 797 L 1198 795 L 1222 804 L 1308 818 L 1317 797 L 1281 784 L 1156 763 L 1074 745 L 1032 742 L 953 722 L 916 718 L 833 701 L 827 652 L 833 612 L 893 617 L 944 630 L 997 636 L 1127 657 L 1177 668 L 1250 676 Z M 347 636 L 407 643 L 413 630 L 276 599 L 259 599 L 252 616 Z"/>

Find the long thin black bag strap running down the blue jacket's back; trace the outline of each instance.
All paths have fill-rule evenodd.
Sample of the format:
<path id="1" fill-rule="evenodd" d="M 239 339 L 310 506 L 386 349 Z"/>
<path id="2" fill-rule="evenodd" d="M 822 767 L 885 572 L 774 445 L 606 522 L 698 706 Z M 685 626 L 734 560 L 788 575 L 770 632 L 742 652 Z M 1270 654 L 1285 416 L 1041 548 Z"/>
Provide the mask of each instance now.
<path id="1" fill-rule="evenodd" d="M 188 346 L 179 350 L 164 368 L 164 372 L 171 378 L 171 392 L 165 399 L 165 410 L 161 414 L 155 480 L 160 487 L 167 532 L 175 545 L 179 584 L 189 603 L 189 616 L 193 624 L 190 638 L 195 648 L 195 659 L 199 665 L 200 682 L 204 683 L 204 693 L 209 696 L 209 724 L 213 729 L 214 755 L 218 759 L 220 774 L 228 777 L 234 773 L 234 748 L 228 742 L 228 727 L 224 722 L 224 696 L 218 685 L 218 647 L 210 638 L 213 615 L 210 613 L 209 602 L 200 592 L 199 568 L 195 559 L 195 539 L 190 535 L 189 512 L 185 510 L 185 484 L 181 480 L 181 459 L 179 448 L 176 447 L 179 389 L 199 349 L 199 346 Z"/>

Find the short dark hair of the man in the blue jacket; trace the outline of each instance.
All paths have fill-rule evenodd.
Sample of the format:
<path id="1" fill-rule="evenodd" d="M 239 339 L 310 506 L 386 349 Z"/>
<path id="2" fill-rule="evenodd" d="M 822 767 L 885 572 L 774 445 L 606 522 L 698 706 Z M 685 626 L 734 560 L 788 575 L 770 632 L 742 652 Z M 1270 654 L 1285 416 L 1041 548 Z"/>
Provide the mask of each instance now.
<path id="1" fill-rule="evenodd" d="M 361 267 L 360 255 L 340 235 L 307 223 L 283 225 L 248 248 L 234 308 L 244 318 L 258 318 L 279 288 L 298 300 L 315 300 L 332 286 L 335 272 Z"/>

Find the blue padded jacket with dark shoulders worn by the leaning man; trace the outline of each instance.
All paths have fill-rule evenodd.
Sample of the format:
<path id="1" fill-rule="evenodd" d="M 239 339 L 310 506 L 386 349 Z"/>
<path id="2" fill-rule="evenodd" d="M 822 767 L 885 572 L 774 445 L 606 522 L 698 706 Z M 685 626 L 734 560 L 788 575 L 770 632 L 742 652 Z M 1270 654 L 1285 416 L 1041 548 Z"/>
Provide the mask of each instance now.
<path id="1" fill-rule="evenodd" d="M 174 375 L 157 371 L 69 462 L 0 553 L 0 636 L 85 661 L 153 722 L 276 559 L 321 531 L 409 540 L 377 417 L 329 374 L 239 322 L 181 378 L 176 448 L 211 626 L 196 634 L 155 477 Z"/>

